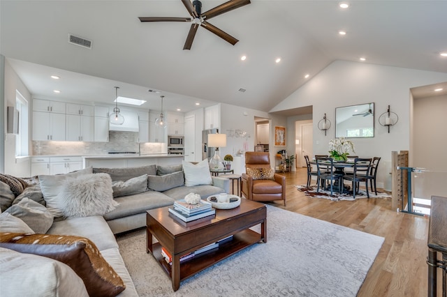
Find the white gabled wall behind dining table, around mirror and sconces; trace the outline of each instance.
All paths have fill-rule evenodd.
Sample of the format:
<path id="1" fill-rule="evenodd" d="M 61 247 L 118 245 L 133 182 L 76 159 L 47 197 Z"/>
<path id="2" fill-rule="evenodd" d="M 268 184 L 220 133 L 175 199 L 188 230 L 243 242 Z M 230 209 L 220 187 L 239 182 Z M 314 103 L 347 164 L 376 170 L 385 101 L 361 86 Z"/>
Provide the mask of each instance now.
<path id="1" fill-rule="evenodd" d="M 335 107 L 374 102 L 374 137 L 352 140 L 356 155 L 382 158 L 377 185 L 381 187 L 389 179 L 391 151 L 410 148 L 410 89 L 446 81 L 447 73 L 335 61 L 270 112 L 312 105 L 314 154 L 323 154 L 328 152 L 330 139 L 335 138 Z M 377 121 L 388 105 L 399 115 L 399 122 L 391 127 L 389 134 Z M 325 113 L 332 122 L 327 136 L 316 126 Z M 293 127 L 288 125 L 288 128 Z"/>

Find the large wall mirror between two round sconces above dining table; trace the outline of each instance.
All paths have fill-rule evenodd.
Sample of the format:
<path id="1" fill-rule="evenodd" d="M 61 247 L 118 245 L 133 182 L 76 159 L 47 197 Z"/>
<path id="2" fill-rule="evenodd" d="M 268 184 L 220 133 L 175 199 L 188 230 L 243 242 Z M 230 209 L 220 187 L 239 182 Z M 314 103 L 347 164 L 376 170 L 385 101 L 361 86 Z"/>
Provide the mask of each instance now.
<path id="1" fill-rule="evenodd" d="M 374 102 L 335 108 L 335 137 L 374 137 Z"/>

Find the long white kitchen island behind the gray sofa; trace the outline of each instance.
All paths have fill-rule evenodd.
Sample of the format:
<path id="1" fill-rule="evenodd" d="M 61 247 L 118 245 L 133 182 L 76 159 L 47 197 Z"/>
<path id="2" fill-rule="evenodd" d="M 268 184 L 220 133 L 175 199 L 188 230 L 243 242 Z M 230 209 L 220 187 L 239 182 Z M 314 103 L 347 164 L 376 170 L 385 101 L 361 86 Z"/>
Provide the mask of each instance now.
<path id="1" fill-rule="evenodd" d="M 147 165 L 181 165 L 184 155 L 175 154 L 112 154 L 82 156 L 82 168 L 126 168 Z"/>

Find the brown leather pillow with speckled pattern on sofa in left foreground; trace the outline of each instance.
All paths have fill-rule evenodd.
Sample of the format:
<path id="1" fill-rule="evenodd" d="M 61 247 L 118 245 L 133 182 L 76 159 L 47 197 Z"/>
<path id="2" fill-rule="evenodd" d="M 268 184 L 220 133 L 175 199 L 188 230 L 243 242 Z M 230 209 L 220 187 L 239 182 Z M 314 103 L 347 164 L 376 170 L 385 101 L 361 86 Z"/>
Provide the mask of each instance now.
<path id="1" fill-rule="evenodd" d="M 117 296 L 126 289 L 121 277 L 88 238 L 3 232 L 0 247 L 63 262 L 79 275 L 89 296 Z"/>

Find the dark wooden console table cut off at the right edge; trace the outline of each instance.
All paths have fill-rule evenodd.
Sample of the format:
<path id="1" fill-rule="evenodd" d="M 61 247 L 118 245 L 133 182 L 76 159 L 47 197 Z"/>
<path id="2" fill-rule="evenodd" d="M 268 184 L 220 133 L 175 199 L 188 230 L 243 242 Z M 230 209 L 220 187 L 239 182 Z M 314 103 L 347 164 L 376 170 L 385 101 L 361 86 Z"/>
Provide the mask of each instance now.
<path id="1" fill-rule="evenodd" d="M 442 295 L 447 296 L 447 197 L 432 196 L 432 213 L 428 227 L 428 294 L 437 296 L 437 269 L 442 269 Z M 437 254 L 442 254 L 438 259 Z"/>

